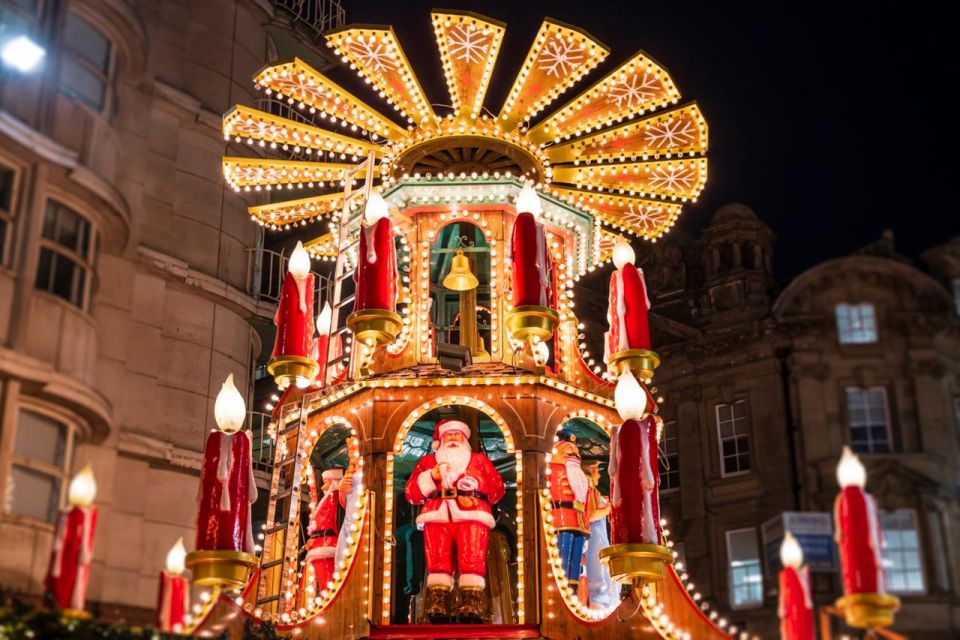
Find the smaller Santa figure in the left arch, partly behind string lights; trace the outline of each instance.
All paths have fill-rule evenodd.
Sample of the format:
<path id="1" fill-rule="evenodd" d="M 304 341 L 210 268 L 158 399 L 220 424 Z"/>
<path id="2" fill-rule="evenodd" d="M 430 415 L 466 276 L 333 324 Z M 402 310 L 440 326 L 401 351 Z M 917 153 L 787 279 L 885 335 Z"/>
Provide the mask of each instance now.
<path id="1" fill-rule="evenodd" d="M 300 593 L 307 597 L 316 597 L 321 591 L 328 588 L 333 580 L 335 569 L 337 535 L 343 523 L 343 508 L 345 496 L 340 493 L 340 481 L 343 479 L 343 469 L 333 467 L 324 471 L 320 478 L 323 481 L 321 491 L 323 497 L 318 499 L 317 482 L 311 474 L 310 483 L 310 523 L 307 525 L 307 550 L 304 558 L 304 569 L 300 576 Z"/>

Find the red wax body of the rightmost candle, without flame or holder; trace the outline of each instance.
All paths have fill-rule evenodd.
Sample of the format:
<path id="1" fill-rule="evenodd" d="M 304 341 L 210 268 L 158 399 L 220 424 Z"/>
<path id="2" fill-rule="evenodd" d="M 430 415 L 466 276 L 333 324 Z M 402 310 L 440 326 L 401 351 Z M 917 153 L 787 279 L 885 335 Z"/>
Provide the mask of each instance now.
<path id="1" fill-rule="evenodd" d="M 843 592 L 886 593 L 881 549 L 883 534 L 873 496 L 860 487 L 844 487 L 833 515 L 843 569 Z"/>

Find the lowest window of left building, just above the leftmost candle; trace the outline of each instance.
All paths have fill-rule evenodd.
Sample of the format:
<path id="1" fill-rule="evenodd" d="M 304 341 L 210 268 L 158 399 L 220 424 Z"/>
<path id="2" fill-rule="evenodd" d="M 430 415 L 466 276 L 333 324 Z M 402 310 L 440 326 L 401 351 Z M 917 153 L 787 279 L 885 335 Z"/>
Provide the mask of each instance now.
<path id="1" fill-rule="evenodd" d="M 53 523 L 60 508 L 67 460 L 67 428 L 23 409 L 11 456 L 8 510 Z"/>

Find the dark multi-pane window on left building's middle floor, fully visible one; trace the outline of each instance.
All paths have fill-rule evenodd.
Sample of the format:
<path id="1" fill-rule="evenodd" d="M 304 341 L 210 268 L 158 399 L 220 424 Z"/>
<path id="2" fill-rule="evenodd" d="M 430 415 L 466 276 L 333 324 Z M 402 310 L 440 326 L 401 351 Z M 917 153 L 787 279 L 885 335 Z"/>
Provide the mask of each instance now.
<path id="1" fill-rule="evenodd" d="M 90 223 L 76 211 L 47 201 L 37 266 L 37 288 L 84 308 L 93 249 Z"/>

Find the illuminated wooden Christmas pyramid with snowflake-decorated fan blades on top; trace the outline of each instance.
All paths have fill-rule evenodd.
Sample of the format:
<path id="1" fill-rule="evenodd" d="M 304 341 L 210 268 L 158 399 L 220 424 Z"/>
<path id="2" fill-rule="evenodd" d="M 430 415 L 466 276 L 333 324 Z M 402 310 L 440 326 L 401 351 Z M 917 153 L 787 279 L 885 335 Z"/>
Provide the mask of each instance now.
<path id="1" fill-rule="evenodd" d="M 252 152 L 224 158 L 227 182 L 272 196 L 251 218 L 329 232 L 289 260 L 269 365 L 284 395 L 253 533 L 250 438 L 218 402 L 187 556 L 213 597 L 187 630 L 736 634 L 692 591 L 659 516 L 659 358 L 624 235 L 655 241 L 698 196 L 706 123 L 643 53 L 545 115 L 609 53 L 553 20 L 493 114 L 505 25 L 432 21 L 449 107 L 431 105 L 392 29 L 356 26 L 328 44 L 390 118 L 299 59 L 256 76 L 269 109 L 224 116 L 225 138 Z M 336 261 L 319 314 L 311 255 Z M 573 287 L 611 259 L 600 363 Z"/>

